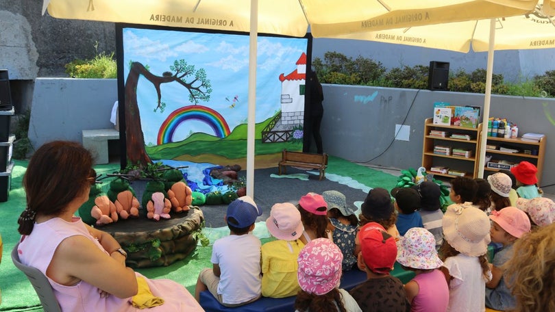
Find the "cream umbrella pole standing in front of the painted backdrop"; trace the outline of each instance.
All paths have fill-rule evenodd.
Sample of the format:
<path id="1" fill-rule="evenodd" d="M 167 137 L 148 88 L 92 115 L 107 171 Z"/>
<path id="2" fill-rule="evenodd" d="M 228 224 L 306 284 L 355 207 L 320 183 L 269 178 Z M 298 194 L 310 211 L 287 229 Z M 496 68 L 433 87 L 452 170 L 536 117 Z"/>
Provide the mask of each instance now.
<path id="1" fill-rule="evenodd" d="M 258 0 L 251 0 L 249 34 L 249 104 L 247 114 L 247 195 L 254 198 L 254 128 L 256 122 L 256 50 L 258 40 Z"/>

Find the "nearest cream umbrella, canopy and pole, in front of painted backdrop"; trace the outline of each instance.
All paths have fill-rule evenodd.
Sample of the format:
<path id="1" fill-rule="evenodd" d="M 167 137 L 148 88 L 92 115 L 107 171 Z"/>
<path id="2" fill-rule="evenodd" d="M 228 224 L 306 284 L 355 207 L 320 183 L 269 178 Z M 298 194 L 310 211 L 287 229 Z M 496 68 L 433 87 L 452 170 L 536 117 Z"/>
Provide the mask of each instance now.
<path id="1" fill-rule="evenodd" d="M 55 18 L 248 31 L 247 195 L 254 195 L 258 33 L 301 37 L 431 25 L 529 12 L 537 0 L 43 0 Z M 260 5 L 259 5 L 260 4 Z"/>

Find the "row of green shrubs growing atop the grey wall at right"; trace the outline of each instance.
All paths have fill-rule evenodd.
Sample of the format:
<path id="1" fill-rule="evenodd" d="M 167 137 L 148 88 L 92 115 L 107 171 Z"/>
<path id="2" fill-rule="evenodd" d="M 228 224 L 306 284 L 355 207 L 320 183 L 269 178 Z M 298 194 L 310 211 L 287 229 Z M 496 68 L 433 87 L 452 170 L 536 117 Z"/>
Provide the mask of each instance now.
<path id="1" fill-rule="evenodd" d="M 429 66 L 402 66 L 386 70 L 382 63 L 358 56 L 355 60 L 337 52 L 326 52 L 323 60 L 315 57 L 312 68 L 321 83 L 386 88 L 428 88 Z M 484 93 L 486 70 L 478 68 L 471 73 L 458 69 L 449 75 L 449 90 L 454 92 Z M 504 82 L 503 75 L 493 74 L 491 93 L 513 96 L 555 96 L 555 70 L 545 72 L 532 80 L 519 83 Z"/>

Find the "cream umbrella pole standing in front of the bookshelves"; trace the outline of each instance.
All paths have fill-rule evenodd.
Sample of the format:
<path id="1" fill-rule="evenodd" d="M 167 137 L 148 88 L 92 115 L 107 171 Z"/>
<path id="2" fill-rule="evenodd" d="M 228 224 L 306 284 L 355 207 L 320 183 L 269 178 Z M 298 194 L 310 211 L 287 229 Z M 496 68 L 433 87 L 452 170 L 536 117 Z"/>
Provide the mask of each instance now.
<path id="1" fill-rule="evenodd" d="M 486 68 L 486 94 L 484 95 L 484 116 L 482 117 L 482 135 L 480 137 L 480 159 L 478 160 L 478 178 L 484 177 L 484 167 L 486 166 L 486 143 L 488 140 L 487 125 L 489 119 L 489 105 L 491 101 L 491 80 L 493 77 L 493 46 L 495 45 L 495 18 L 491 18 L 489 24 L 489 49 L 488 64 Z"/>

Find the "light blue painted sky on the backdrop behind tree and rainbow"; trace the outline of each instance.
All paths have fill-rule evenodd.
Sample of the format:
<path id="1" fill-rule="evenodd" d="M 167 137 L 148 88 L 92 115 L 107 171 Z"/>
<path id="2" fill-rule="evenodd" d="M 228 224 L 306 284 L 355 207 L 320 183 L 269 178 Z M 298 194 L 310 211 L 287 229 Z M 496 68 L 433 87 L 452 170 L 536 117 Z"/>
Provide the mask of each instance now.
<path id="1" fill-rule="evenodd" d="M 256 122 L 265 120 L 280 110 L 280 74 L 287 75 L 297 68 L 295 63 L 306 52 L 306 38 L 258 37 Z M 171 71 L 174 60 L 184 59 L 195 70 L 204 68 L 212 84 L 210 101 L 199 102 L 219 112 L 233 131 L 247 122 L 249 36 L 207 34 L 188 31 L 154 29 L 123 29 L 124 78 L 127 79 L 130 61 L 148 66 L 153 75 Z M 188 81 L 189 79 L 187 79 Z M 156 90 L 145 77 L 138 83 L 137 96 L 145 144 L 156 144 L 160 125 L 171 112 L 193 105 L 188 91 L 179 83 L 163 83 L 164 112 L 153 112 Z M 230 107 L 238 96 L 235 107 Z M 230 101 L 226 100 L 229 99 Z M 173 142 L 184 140 L 191 133 L 214 131 L 204 122 L 186 120 L 177 128 Z"/>

